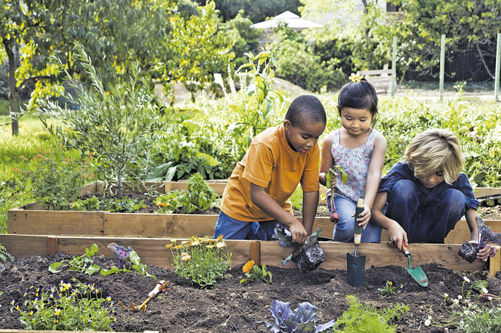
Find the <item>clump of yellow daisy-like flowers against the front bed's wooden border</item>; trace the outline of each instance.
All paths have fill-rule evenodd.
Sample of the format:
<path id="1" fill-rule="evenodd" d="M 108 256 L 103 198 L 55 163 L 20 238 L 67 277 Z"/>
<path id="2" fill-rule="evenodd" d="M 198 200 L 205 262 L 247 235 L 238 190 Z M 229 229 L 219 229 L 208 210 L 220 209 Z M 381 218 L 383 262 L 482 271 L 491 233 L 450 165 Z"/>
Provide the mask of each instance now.
<path id="1" fill-rule="evenodd" d="M 188 241 L 171 239 L 167 244 L 173 259 L 175 274 L 196 284 L 200 288 L 216 285 L 223 279 L 226 270 L 231 269 L 231 253 L 228 251 L 223 235 L 216 239 L 190 237 Z"/>

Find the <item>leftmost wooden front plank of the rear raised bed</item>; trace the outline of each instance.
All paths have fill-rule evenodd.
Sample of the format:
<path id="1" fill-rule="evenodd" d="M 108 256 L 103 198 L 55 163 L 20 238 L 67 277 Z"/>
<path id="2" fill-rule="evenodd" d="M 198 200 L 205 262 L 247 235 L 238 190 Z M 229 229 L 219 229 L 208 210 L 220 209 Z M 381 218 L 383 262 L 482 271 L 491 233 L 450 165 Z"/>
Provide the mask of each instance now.
<path id="1" fill-rule="evenodd" d="M 102 236 L 104 213 L 9 210 L 7 232 L 20 235 Z"/>

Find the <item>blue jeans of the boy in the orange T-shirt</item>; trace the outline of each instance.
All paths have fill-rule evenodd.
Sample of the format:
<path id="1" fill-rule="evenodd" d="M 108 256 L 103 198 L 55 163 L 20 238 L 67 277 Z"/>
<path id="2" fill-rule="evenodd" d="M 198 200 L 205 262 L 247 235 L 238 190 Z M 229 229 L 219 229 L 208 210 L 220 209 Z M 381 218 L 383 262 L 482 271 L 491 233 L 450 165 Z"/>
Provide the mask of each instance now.
<path id="1" fill-rule="evenodd" d="M 265 222 L 245 222 L 233 219 L 220 212 L 214 238 L 223 235 L 223 239 L 255 239 L 261 241 L 274 241 L 276 220 Z"/>

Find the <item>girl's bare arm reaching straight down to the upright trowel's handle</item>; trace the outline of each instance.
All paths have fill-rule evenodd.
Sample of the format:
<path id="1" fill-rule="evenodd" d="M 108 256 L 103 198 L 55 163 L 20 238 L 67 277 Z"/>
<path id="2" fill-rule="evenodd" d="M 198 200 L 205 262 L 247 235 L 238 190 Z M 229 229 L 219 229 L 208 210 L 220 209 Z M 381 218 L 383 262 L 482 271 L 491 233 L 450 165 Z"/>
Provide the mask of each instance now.
<path id="1" fill-rule="evenodd" d="M 372 156 L 370 158 L 369 170 L 367 171 L 367 183 L 365 185 L 365 210 L 360 214 L 357 222 L 360 226 L 364 226 L 370 221 L 372 205 L 379 188 L 379 179 L 381 178 L 381 171 L 383 169 L 384 157 L 387 152 L 387 140 L 383 135 L 379 134 L 374 141 L 372 148 Z"/>

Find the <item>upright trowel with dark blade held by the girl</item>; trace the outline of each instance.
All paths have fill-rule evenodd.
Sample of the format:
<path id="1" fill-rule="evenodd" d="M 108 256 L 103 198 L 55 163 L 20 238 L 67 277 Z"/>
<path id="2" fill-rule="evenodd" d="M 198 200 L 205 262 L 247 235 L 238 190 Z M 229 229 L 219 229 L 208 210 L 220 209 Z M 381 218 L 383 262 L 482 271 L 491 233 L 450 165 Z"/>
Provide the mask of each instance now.
<path id="1" fill-rule="evenodd" d="M 351 255 L 346 253 L 346 273 L 348 284 L 350 286 L 362 286 L 364 284 L 365 277 L 365 255 L 360 255 L 357 257 L 358 246 L 360 245 L 360 240 L 362 238 L 363 227 L 358 226 L 358 215 L 364 211 L 364 200 L 358 199 L 357 208 L 355 209 L 355 224 L 354 224 L 354 234 L 353 243 L 355 243 L 355 253 Z"/>

